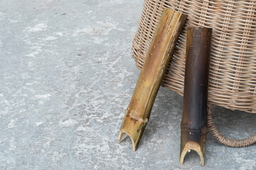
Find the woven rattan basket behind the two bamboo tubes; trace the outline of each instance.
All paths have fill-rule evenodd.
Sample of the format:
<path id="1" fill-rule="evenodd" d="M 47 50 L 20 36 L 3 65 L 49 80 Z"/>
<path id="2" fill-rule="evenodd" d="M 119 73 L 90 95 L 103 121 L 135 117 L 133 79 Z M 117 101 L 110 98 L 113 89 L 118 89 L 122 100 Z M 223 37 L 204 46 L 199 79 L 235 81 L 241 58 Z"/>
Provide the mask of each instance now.
<path id="1" fill-rule="evenodd" d="M 183 94 L 186 28 L 213 28 L 208 101 L 231 110 L 256 113 L 256 0 L 145 0 L 132 44 L 132 57 L 142 69 L 146 52 L 164 8 L 188 19 L 162 86 Z"/>

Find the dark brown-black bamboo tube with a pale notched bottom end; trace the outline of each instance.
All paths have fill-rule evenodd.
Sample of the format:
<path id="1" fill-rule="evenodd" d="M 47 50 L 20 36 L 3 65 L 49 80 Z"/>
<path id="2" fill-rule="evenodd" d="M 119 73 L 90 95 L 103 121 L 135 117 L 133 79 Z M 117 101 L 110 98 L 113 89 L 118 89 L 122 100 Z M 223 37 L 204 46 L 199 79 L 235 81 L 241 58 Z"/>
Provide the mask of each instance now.
<path id="1" fill-rule="evenodd" d="M 204 165 L 207 135 L 208 77 L 211 28 L 188 28 L 181 120 L 181 157 L 195 150 Z"/>

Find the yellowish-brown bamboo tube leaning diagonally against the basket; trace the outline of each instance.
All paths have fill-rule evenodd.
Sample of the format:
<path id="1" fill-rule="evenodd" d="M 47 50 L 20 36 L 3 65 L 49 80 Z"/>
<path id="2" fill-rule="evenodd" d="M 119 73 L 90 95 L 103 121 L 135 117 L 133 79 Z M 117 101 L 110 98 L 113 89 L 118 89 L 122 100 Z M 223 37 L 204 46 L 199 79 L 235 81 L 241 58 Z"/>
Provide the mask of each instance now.
<path id="1" fill-rule="evenodd" d="M 139 74 L 134 94 L 124 114 L 118 142 L 129 136 L 136 151 L 146 124 L 149 122 L 161 79 L 174 51 L 186 15 L 165 8 L 151 41 L 142 72 Z"/>

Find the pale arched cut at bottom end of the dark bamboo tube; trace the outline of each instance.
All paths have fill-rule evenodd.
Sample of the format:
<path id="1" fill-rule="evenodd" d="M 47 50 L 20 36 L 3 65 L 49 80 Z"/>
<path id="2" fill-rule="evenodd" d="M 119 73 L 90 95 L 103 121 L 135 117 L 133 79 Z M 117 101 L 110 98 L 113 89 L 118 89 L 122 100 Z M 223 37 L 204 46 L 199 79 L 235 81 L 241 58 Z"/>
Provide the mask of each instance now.
<path id="1" fill-rule="evenodd" d="M 184 147 L 181 148 L 180 164 L 183 164 L 186 153 L 191 152 L 191 150 L 194 150 L 199 154 L 199 157 L 201 159 L 201 166 L 204 166 L 205 165 L 204 152 L 202 151 L 201 146 L 198 144 L 198 142 L 194 142 L 194 141 L 186 142 L 186 145 L 184 145 Z"/>

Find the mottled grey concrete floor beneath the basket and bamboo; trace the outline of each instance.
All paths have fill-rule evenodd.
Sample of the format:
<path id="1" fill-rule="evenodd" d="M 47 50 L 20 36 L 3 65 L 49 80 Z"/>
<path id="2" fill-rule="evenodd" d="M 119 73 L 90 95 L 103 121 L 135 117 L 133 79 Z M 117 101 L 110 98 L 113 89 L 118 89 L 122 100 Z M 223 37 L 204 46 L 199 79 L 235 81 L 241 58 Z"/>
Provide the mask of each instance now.
<path id="1" fill-rule="evenodd" d="M 142 0 L 0 1 L 0 169 L 256 169 L 256 146 L 208 134 L 206 166 L 179 164 L 182 97 L 161 88 L 137 152 L 117 144 L 139 76 L 131 57 Z M 228 137 L 256 115 L 214 107 Z"/>

